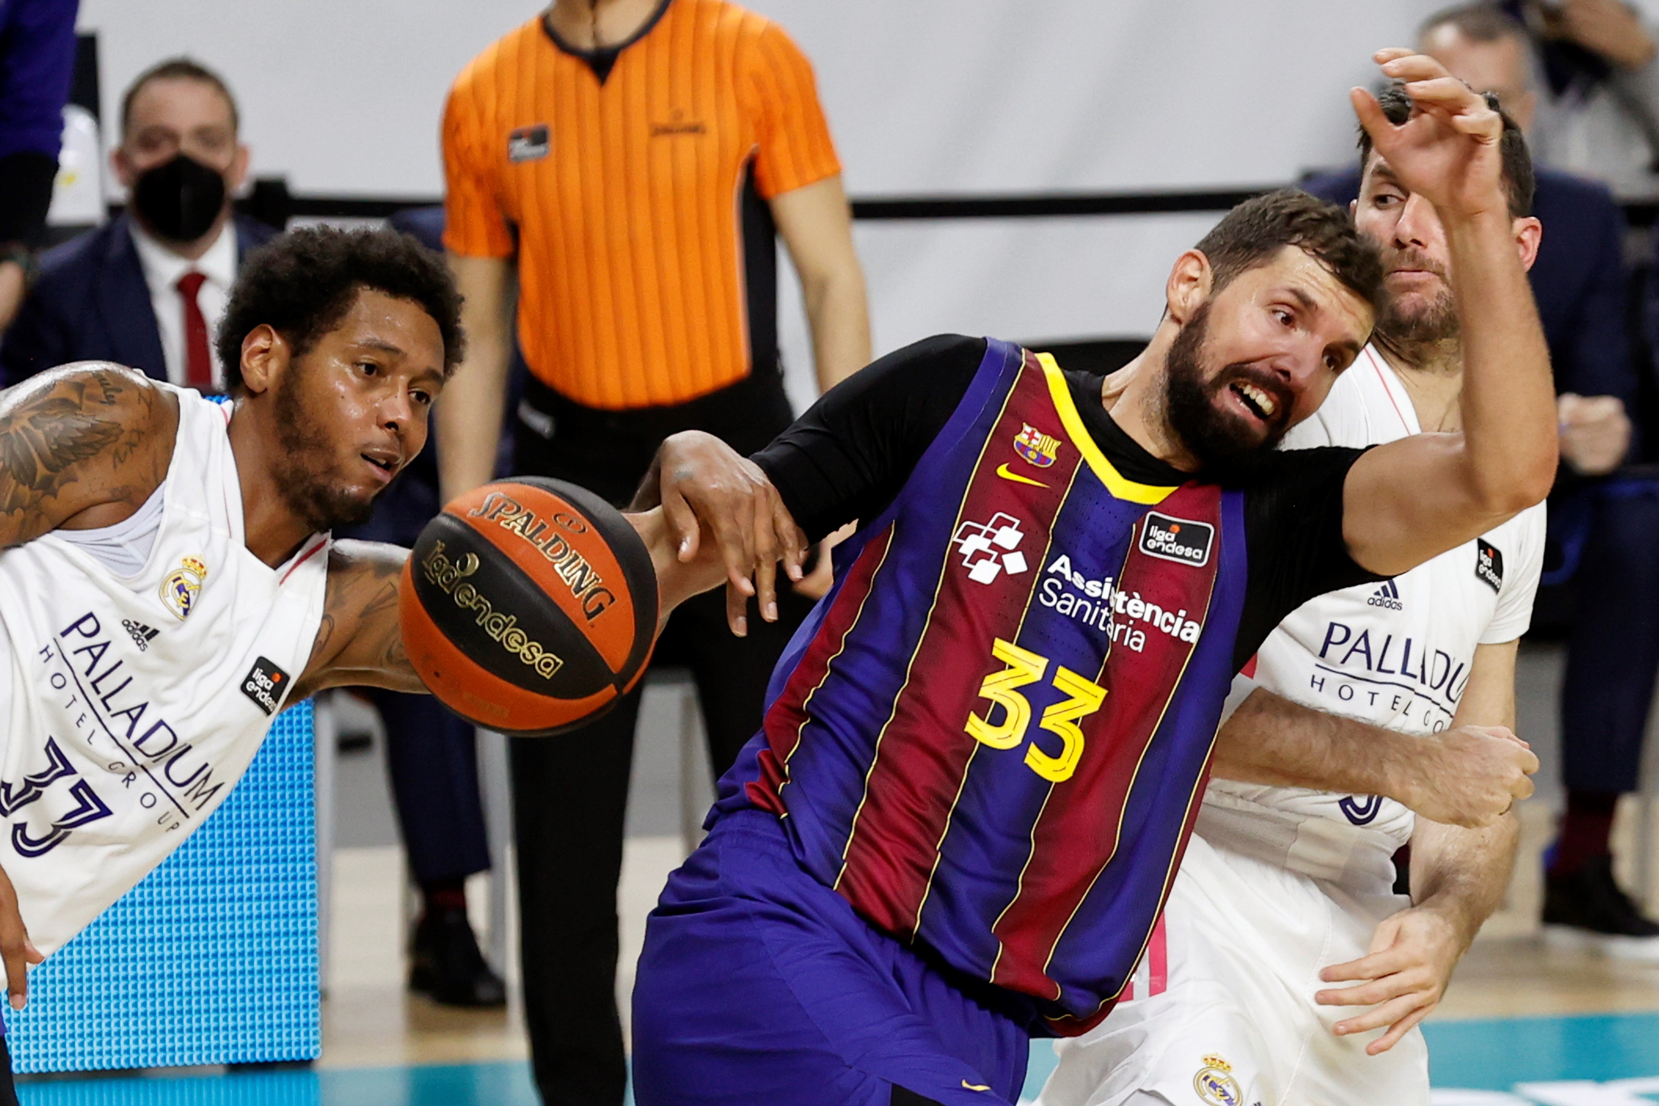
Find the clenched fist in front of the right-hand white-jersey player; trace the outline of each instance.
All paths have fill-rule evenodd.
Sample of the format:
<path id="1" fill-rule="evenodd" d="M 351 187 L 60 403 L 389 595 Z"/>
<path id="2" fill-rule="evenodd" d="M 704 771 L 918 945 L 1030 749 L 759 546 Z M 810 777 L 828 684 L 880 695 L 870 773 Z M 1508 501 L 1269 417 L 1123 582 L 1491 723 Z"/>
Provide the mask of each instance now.
<path id="1" fill-rule="evenodd" d="M 1533 793 L 1538 756 L 1503 726 L 1458 726 L 1423 745 L 1395 798 L 1427 819 L 1483 829 Z"/>

